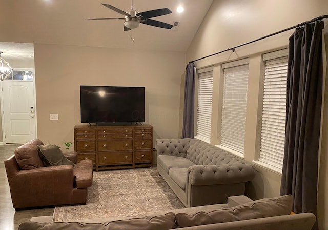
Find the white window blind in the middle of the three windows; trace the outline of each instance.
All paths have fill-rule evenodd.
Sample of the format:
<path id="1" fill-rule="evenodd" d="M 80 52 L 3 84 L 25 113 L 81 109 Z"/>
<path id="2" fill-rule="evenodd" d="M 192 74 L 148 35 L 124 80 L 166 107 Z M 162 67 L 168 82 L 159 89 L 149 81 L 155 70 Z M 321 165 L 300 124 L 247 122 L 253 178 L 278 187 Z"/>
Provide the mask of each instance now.
<path id="1" fill-rule="evenodd" d="M 223 69 L 221 145 L 241 154 L 244 150 L 248 70 L 248 64 Z"/>

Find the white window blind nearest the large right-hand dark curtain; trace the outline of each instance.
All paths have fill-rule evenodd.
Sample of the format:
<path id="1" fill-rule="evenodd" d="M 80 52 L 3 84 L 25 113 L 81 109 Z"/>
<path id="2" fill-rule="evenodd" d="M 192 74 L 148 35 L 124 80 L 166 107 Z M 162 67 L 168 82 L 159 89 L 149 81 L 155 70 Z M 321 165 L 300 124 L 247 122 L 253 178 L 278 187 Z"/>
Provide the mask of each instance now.
<path id="1" fill-rule="evenodd" d="M 287 65 L 286 56 L 265 61 L 259 161 L 279 169 L 284 152 Z"/>

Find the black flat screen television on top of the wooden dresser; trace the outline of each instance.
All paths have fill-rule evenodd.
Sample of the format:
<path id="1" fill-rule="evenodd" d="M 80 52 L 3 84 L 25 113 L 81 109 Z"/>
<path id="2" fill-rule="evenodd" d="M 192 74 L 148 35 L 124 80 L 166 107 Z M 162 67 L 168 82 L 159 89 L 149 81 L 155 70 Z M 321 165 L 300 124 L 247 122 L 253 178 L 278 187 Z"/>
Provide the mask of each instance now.
<path id="1" fill-rule="evenodd" d="M 145 122 L 145 87 L 80 86 L 81 123 Z"/>

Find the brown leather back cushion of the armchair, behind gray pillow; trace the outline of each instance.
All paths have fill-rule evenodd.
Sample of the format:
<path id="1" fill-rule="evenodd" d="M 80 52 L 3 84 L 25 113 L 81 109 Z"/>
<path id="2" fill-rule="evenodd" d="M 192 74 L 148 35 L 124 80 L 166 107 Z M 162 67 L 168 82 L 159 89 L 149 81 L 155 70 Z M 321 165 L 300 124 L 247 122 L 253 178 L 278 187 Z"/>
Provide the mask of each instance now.
<path id="1" fill-rule="evenodd" d="M 26 170 L 44 166 L 38 155 L 37 145 L 43 145 L 42 141 L 34 139 L 16 148 L 15 159 L 20 169 Z"/>

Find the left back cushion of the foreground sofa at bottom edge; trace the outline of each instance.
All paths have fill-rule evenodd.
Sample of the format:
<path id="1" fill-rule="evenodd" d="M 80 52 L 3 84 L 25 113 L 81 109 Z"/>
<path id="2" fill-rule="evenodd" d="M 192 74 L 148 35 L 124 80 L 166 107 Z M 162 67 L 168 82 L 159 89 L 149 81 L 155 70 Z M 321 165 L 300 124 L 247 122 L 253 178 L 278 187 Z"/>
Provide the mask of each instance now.
<path id="1" fill-rule="evenodd" d="M 126 220 L 116 220 L 105 223 L 80 223 L 80 222 L 23 222 L 19 225 L 19 230 L 41 230 L 41 229 L 83 229 L 83 230 L 167 230 L 174 227 L 174 213 L 170 212 L 151 218 L 138 217 Z"/>

